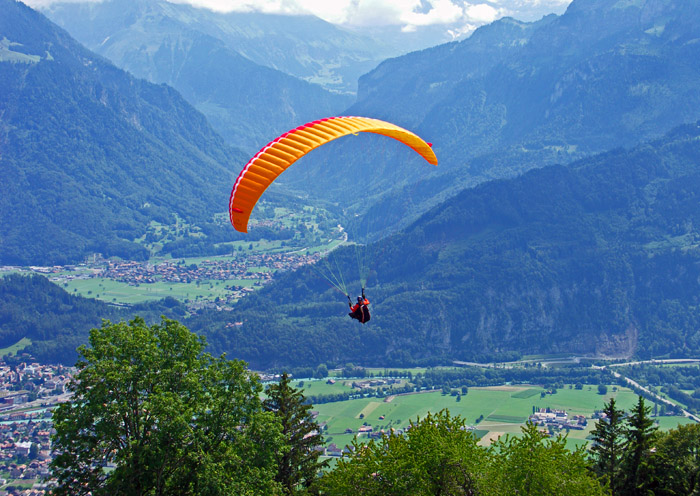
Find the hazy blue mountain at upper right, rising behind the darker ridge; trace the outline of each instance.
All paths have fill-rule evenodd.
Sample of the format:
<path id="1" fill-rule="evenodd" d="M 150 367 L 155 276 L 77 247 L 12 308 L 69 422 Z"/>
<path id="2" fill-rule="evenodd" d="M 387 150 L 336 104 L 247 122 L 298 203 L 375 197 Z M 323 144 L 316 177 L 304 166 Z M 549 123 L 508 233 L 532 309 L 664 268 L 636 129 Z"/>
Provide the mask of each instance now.
<path id="1" fill-rule="evenodd" d="M 483 180 L 662 136 L 700 118 L 698 33 L 691 0 L 574 0 L 561 16 L 501 19 L 360 79 L 347 113 L 416 131 L 433 142 L 437 169 L 413 166 L 398 148 L 374 155 L 376 146 L 350 140 L 283 180 L 358 208 L 420 181 L 408 206 L 402 193 L 372 207 L 414 218 L 434 197 Z"/>

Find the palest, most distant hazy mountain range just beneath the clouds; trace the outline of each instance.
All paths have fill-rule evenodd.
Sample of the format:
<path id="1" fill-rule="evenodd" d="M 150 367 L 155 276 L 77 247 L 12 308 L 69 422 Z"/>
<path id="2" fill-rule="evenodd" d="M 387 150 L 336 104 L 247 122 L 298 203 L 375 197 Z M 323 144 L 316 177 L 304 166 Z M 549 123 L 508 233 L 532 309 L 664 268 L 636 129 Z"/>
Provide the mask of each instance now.
<path id="1" fill-rule="evenodd" d="M 411 46 L 430 46 L 422 38 L 398 37 L 389 28 L 373 29 L 377 38 L 312 15 L 221 12 L 164 0 L 52 2 L 42 10 L 120 67 L 153 77 L 158 74 L 148 55 L 168 38 L 192 33 L 207 34 L 258 65 L 352 94 L 358 78 L 384 59 L 406 53 Z"/>

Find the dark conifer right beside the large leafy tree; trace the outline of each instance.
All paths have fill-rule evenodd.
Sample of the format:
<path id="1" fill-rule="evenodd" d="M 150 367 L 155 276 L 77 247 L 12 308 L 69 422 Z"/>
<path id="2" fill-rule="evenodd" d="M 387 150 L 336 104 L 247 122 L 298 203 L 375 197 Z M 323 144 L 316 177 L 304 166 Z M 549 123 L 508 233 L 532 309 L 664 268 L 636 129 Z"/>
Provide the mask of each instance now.
<path id="1" fill-rule="evenodd" d="M 281 424 L 286 443 L 277 456 L 275 480 L 285 494 L 309 489 L 327 464 L 319 461 L 321 452 L 316 448 L 323 446 L 323 436 L 311 417 L 311 405 L 304 404 L 302 391 L 290 386 L 286 372 L 278 384 L 268 386 L 265 392 L 268 398 L 263 406 Z"/>

